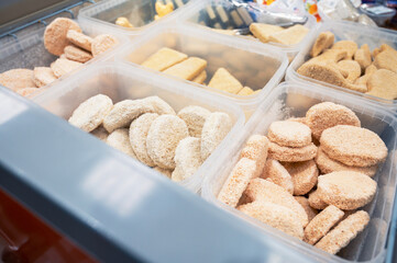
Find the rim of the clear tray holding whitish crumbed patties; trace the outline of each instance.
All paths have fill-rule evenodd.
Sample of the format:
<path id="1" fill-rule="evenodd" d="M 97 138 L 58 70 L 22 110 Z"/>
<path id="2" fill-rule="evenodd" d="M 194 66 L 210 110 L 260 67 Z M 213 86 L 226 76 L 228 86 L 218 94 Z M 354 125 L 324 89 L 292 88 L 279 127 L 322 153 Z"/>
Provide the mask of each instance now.
<path id="1" fill-rule="evenodd" d="M 64 81 L 57 85 L 54 85 L 52 89 L 48 89 L 47 92 L 37 94 L 35 98 L 33 98 L 33 101 L 37 104 L 42 104 L 44 102 L 49 102 L 54 98 L 59 98 L 70 90 L 78 89 L 76 87 L 69 85 L 69 83 L 76 83 L 76 81 L 78 81 L 79 79 L 82 79 L 80 77 L 82 77 L 84 75 L 91 73 L 91 77 L 92 77 L 92 75 L 96 75 L 95 71 L 100 70 L 100 69 L 107 69 L 107 68 L 117 68 L 123 72 L 128 72 L 128 71 L 132 72 L 133 71 L 134 77 L 140 76 L 140 78 L 143 78 L 143 81 L 146 81 L 148 83 L 154 82 L 153 81 L 154 76 L 152 76 L 152 73 L 146 72 L 140 68 L 133 67 L 133 66 L 128 65 L 122 61 L 102 61 L 102 62 L 96 64 L 95 66 L 87 67 L 85 72 L 75 73 L 74 76 L 68 78 L 67 81 Z M 140 73 L 143 73 L 143 75 L 140 75 Z M 146 76 L 144 76 L 144 75 L 146 75 Z M 142 77 L 142 76 L 144 76 L 144 77 Z M 89 79 L 89 78 L 86 77 L 85 79 Z M 166 77 L 156 77 L 154 83 L 158 87 L 162 87 L 161 89 L 163 89 L 163 90 L 173 92 L 172 89 L 165 88 L 164 85 L 159 85 L 159 82 L 164 83 L 165 81 L 169 82 L 169 83 L 167 83 L 167 87 L 179 85 L 179 87 L 185 88 L 185 85 L 187 85 L 186 83 L 180 83 L 179 81 L 176 81 L 176 80 L 169 80 Z M 195 193 L 198 193 L 201 190 L 202 180 L 206 178 L 206 173 L 203 172 L 203 170 L 206 168 L 212 165 L 212 163 L 217 160 L 218 156 L 227 147 L 225 144 L 232 141 L 233 138 L 235 137 L 235 135 L 239 134 L 241 129 L 243 129 L 243 126 L 245 123 L 245 116 L 244 116 L 244 113 L 242 112 L 241 107 L 239 107 L 234 103 L 228 102 L 224 98 L 221 98 L 220 95 L 208 94 L 202 89 L 199 89 L 196 87 L 195 88 L 186 87 L 186 88 L 187 88 L 186 89 L 187 91 L 185 91 L 184 94 L 181 94 L 181 95 L 189 96 L 189 98 L 199 98 L 202 100 L 202 102 L 205 102 L 203 98 L 206 98 L 206 99 L 210 98 L 212 102 L 217 101 L 218 105 L 221 105 L 222 108 L 227 108 L 235 117 L 235 123 L 234 123 L 232 129 L 223 138 L 222 142 L 217 147 L 217 149 L 211 153 L 211 156 L 196 171 L 196 173 L 194 175 L 191 175 L 189 179 L 178 182 L 184 187 L 186 187 Z M 181 88 L 179 90 L 181 90 Z M 128 157 L 128 158 L 130 158 L 130 157 Z M 145 165 L 145 164 L 142 164 L 142 165 Z"/>

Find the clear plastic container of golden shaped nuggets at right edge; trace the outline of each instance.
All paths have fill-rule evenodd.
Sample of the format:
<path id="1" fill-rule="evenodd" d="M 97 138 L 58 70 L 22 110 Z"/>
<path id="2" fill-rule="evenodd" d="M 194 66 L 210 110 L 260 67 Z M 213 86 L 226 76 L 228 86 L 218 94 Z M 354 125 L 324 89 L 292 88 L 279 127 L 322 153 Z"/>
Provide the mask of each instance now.
<path id="1" fill-rule="evenodd" d="M 387 44 L 393 48 L 397 48 L 397 34 L 390 30 L 375 28 L 372 26 L 363 26 L 349 22 L 326 22 L 323 23 L 316 32 L 311 35 L 311 38 L 307 43 L 308 45 L 300 50 L 296 56 L 294 61 L 287 69 L 286 80 L 297 81 L 297 82 L 312 82 L 321 85 L 327 85 L 337 90 L 344 91 L 346 93 L 355 94 L 357 96 L 370 100 L 378 105 L 388 108 L 397 108 L 397 100 L 385 100 L 373 95 L 367 95 L 362 92 L 353 91 L 342 87 L 333 85 L 323 81 L 315 80 L 306 76 L 301 76 L 297 72 L 298 68 L 308 59 L 310 59 L 310 50 L 316 42 L 318 35 L 321 32 L 330 31 L 335 35 L 335 42 L 338 41 L 354 41 L 359 46 L 368 44 L 370 49 L 373 50 L 376 47 L 379 47 L 382 44 Z"/>

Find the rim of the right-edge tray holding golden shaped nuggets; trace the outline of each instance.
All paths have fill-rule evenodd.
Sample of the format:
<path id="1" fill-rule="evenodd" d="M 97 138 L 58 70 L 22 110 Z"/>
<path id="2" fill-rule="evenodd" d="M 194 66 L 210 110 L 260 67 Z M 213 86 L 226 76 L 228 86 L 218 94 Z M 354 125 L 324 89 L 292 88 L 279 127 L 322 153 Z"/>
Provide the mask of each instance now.
<path id="1" fill-rule="evenodd" d="M 393 37 L 397 41 L 397 33 L 392 31 L 392 30 L 387 30 L 387 28 L 377 28 L 377 27 L 373 27 L 373 26 L 368 26 L 368 25 L 360 25 L 353 22 L 349 22 L 349 21 L 326 21 L 321 26 L 319 26 L 316 32 L 310 36 L 310 38 L 308 39 L 308 45 L 310 43 L 313 43 L 313 41 L 317 38 L 317 36 L 323 32 L 327 31 L 328 28 L 343 28 L 343 31 L 345 31 L 345 28 L 348 28 L 349 31 L 354 31 L 354 32 L 361 32 L 361 34 L 367 34 L 367 35 L 373 35 L 372 33 L 377 33 L 377 34 L 382 34 L 383 36 L 386 37 Z M 308 48 L 308 47 L 307 47 Z M 359 91 L 353 91 L 346 88 L 342 88 L 342 87 L 338 87 L 334 84 L 330 84 L 327 83 L 324 81 L 319 81 L 319 80 L 315 80 L 311 79 L 309 77 L 306 76 L 301 76 L 297 72 L 298 67 L 301 65 L 300 62 L 298 62 L 299 59 L 304 59 L 306 60 L 306 57 L 308 56 L 308 50 L 309 49 L 301 49 L 298 55 L 295 57 L 295 59 L 293 60 L 293 62 L 289 65 L 288 69 L 287 69 L 287 73 L 286 73 L 286 79 L 287 80 L 291 80 L 295 82 L 301 82 L 301 83 L 316 83 L 316 84 L 320 84 L 323 87 L 328 87 L 331 89 L 335 89 L 335 90 L 340 90 L 343 91 L 345 93 L 351 93 L 354 94 L 356 96 L 361 96 L 363 99 L 370 100 L 378 105 L 385 106 L 385 107 L 389 107 L 393 110 L 397 108 L 397 100 L 386 100 L 386 99 L 382 99 L 382 98 L 377 98 L 374 95 L 368 95 Z"/>

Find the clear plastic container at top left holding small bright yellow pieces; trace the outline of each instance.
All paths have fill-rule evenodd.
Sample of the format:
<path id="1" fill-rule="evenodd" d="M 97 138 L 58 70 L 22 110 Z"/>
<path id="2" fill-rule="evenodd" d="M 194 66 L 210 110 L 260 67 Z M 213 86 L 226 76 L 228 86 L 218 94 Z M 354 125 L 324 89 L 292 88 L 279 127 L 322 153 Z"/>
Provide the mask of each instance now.
<path id="1" fill-rule="evenodd" d="M 108 30 L 119 32 L 130 37 L 136 36 L 143 30 L 172 20 L 178 12 L 188 8 L 195 0 L 162 0 L 163 3 L 173 2 L 174 11 L 155 21 L 157 0 L 106 0 L 80 10 L 78 21 L 82 24 L 96 23 Z M 186 7 L 185 7 L 186 5 Z M 120 16 L 126 18 L 134 27 L 124 27 L 115 24 Z"/>

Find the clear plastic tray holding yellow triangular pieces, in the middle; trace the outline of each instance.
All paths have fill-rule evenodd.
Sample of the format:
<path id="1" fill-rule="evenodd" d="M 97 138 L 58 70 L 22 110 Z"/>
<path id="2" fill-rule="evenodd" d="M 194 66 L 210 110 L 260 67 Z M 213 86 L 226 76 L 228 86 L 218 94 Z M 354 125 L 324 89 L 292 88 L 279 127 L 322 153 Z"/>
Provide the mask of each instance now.
<path id="1" fill-rule="evenodd" d="M 263 100 L 282 81 L 288 66 L 285 53 L 272 46 L 230 38 L 202 28 L 170 24 L 157 26 L 136 37 L 131 45 L 120 49 L 117 59 L 140 65 L 162 47 L 174 48 L 188 56 L 196 56 L 207 60 L 207 83 L 217 69 L 223 67 L 239 79 L 243 85 L 247 85 L 253 90 L 262 89 L 256 94 L 243 96 L 178 79 L 203 90 L 219 93 L 244 107 L 244 111 L 249 107 L 252 111 L 252 105 Z M 167 76 L 148 68 L 144 69 L 159 76 Z"/>

